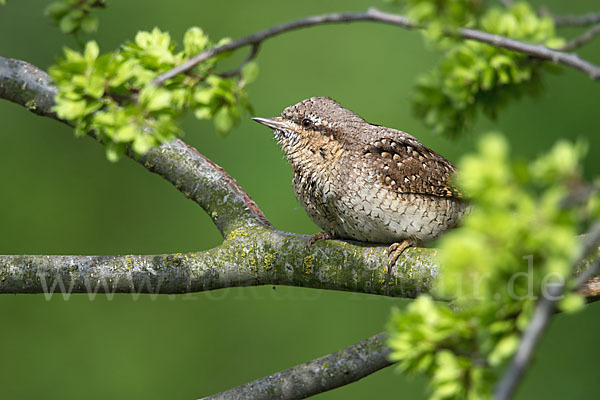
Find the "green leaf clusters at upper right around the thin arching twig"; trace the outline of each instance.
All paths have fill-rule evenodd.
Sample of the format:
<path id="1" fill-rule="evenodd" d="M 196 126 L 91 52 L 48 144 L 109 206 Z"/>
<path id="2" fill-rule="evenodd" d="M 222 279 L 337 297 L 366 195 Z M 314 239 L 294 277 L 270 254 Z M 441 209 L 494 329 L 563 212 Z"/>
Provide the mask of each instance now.
<path id="1" fill-rule="evenodd" d="M 471 127 L 479 113 L 495 118 L 498 111 L 522 95 L 540 92 L 547 63 L 486 43 L 458 40 L 459 26 L 524 42 L 559 48 L 553 20 L 539 16 L 528 3 L 485 8 L 477 0 L 404 0 L 406 13 L 423 24 L 426 37 L 444 55 L 422 76 L 413 109 L 437 133 L 457 135 Z M 554 67 L 556 68 L 556 67 Z"/>

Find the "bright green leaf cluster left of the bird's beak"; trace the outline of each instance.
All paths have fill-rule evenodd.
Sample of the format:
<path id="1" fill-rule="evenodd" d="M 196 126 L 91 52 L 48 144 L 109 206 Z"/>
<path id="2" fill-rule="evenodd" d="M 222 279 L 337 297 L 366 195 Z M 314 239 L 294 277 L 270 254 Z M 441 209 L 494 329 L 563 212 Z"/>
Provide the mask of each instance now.
<path id="1" fill-rule="evenodd" d="M 194 27 L 185 33 L 180 51 L 170 35 L 157 28 L 138 32 L 133 42 L 102 55 L 94 41 L 82 53 L 65 48 L 64 57 L 50 68 L 58 87 L 54 111 L 75 125 L 77 135 L 94 131 L 112 161 L 127 146 L 144 154 L 181 136 L 178 122 L 187 110 L 198 118 L 214 118 L 218 132 L 226 134 L 249 108 L 244 88 L 256 77 L 256 65 L 246 65 L 240 77 L 222 77 L 214 69 L 229 55 L 220 54 L 160 87 L 152 83 L 213 45 Z"/>

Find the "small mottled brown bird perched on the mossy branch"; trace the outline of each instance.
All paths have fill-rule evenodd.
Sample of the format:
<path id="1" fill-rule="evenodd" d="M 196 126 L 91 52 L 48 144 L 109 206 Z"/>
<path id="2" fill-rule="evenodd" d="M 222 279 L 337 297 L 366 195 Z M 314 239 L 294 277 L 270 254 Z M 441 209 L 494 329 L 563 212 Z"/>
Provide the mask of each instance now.
<path id="1" fill-rule="evenodd" d="M 253 120 L 273 130 L 292 166 L 296 198 L 323 230 L 309 247 L 329 239 L 387 244 L 391 274 L 404 250 L 456 227 L 467 210 L 450 161 L 332 98 L 311 97 Z"/>

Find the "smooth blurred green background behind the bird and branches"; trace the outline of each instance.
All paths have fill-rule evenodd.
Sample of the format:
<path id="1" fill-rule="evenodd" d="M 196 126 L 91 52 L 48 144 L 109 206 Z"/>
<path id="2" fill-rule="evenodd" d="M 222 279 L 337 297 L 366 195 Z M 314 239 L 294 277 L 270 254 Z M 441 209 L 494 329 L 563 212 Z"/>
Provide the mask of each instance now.
<path id="1" fill-rule="evenodd" d="M 155 26 L 177 40 L 192 25 L 212 38 L 238 38 L 303 16 L 384 7 L 367 0 L 109 1 L 97 14 L 102 50 Z M 44 1 L 0 8 L 0 54 L 47 68 L 74 47 L 42 16 Z M 598 8 L 597 0 L 535 2 L 556 13 Z M 574 33 L 571 30 L 568 33 Z M 600 42 L 600 40 L 599 40 Z M 600 63 L 600 46 L 581 55 Z M 243 59 L 240 51 L 230 65 Z M 512 104 L 497 121 L 480 120 L 459 140 L 434 136 L 410 113 L 416 77 L 435 63 L 418 33 L 372 23 L 323 26 L 266 42 L 261 74 L 249 88 L 258 116 L 306 97 L 334 97 L 364 118 L 411 132 L 456 161 L 477 134 L 507 134 L 524 158 L 558 138 L 587 137 L 589 176 L 598 176 L 600 86 L 565 71 L 546 80 L 538 100 Z M 247 116 L 249 117 L 249 116 Z M 1 254 L 167 253 L 208 249 L 220 236 L 204 212 L 131 160 L 106 161 L 89 138 L 0 102 Z M 318 231 L 296 202 L 291 170 L 269 130 L 245 118 L 225 138 L 210 122 L 185 121 L 185 140 L 223 166 L 280 229 Z M 0 398 L 194 399 L 335 351 L 384 329 L 404 300 L 277 287 L 112 301 L 73 295 L 0 296 Z M 519 398 L 593 398 L 600 304 L 558 315 Z M 388 368 L 319 399 L 423 398 L 425 383 Z"/>

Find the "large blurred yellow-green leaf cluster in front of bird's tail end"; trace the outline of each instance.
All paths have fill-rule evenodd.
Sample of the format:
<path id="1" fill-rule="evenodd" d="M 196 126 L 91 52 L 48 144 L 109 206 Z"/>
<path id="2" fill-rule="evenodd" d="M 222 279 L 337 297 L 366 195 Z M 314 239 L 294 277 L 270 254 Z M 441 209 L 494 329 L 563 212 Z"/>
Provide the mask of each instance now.
<path id="1" fill-rule="evenodd" d="M 563 141 L 530 163 L 513 161 L 506 140 L 491 134 L 462 159 L 456 183 L 471 209 L 440 240 L 443 269 L 432 291 L 453 302 L 421 296 L 389 325 L 391 358 L 429 376 L 432 399 L 490 398 L 536 300 L 547 285 L 571 285 L 577 235 L 598 214 L 597 199 L 562 203 L 581 185 L 584 153 L 583 144 Z M 563 311 L 582 305 L 572 292 L 559 302 Z"/>

